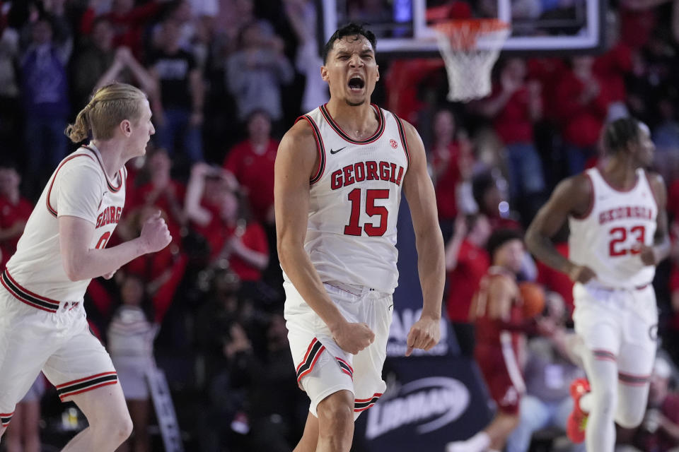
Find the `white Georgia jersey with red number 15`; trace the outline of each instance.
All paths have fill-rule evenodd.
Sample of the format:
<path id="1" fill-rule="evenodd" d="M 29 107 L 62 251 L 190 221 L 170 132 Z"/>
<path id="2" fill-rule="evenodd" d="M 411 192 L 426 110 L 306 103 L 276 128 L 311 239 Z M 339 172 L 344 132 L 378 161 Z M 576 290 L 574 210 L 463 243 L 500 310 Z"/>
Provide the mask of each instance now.
<path id="1" fill-rule="evenodd" d="M 304 248 L 323 282 L 392 293 L 398 283 L 396 220 L 410 158 L 405 129 L 394 114 L 373 105 L 378 128 L 356 141 L 326 107 L 298 118 L 313 129 L 320 161 L 311 178 Z"/>

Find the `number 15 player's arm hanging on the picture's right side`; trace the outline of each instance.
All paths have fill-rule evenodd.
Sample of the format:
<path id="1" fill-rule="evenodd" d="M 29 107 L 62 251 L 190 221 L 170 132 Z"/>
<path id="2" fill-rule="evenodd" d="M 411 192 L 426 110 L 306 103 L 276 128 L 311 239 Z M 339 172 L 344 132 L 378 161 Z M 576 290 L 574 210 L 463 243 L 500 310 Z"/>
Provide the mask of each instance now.
<path id="1" fill-rule="evenodd" d="M 443 236 L 436 213 L 436 196 L 426 172 L 424 145 L 417 130 L 403 121 L 410 151 L 410 166 L 403 182 L 417 246 L 417 270 L 422 285 L 422 315 L 410 328 L 406 356 L 414 348 L 429 350 L 441 339 L 441 300 L 446 278 Z"/>

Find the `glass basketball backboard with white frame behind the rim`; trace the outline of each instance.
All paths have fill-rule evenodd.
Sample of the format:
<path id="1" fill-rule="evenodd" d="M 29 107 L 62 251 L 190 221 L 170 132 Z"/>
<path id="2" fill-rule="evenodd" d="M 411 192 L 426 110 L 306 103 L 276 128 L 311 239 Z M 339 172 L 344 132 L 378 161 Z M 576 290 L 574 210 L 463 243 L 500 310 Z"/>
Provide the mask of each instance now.
<path id="1" fill-rule="evenodd" d="M 381 56 L 436 57 L 436 35 L 428 25 L 470 11 L 511 24 L 503 52 L 567 54 L 603 47 L 606 0 L 317 0 L 317 8 L 319 48 L 353 21 L 369 24 Z M 484 47 L 482 40 L 478 45 Z"/>

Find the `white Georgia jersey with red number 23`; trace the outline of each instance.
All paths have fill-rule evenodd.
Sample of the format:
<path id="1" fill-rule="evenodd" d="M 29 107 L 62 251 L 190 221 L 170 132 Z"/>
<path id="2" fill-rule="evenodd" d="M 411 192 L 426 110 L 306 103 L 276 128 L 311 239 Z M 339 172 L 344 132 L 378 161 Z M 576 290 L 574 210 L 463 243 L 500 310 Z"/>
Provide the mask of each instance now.
<path id="1" fill-rule="evenodd" d="M 588 266 L 602 285 L 634 289 L 650 284 L 655 266 L 646 266 L 638 246 L 654 243 L 658 204 L 644 169 L 629 191 L 614 189 L 596 168 L 585 174 L 592 184 L 590 211 L 569 218 L 569 258 Z"/>

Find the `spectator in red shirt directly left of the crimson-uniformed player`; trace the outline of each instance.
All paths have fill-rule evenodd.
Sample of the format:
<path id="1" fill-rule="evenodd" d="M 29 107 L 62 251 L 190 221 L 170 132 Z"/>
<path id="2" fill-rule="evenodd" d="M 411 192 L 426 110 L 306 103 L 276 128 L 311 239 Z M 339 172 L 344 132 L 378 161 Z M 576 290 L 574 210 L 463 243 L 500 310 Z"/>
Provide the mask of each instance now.
<path id="1" fill-rule="evenodd" d="M 448 320 L 453 325 L 460 352 L 467 357 L 474 352 L 474 330 L 469 321 L 469 309 L 481 278 L 490 267 L 485 246 L 491 232 L 490 222 L 482 213 L 460 217 L 455 222 L 453 238 L 446 244 Z"/>

